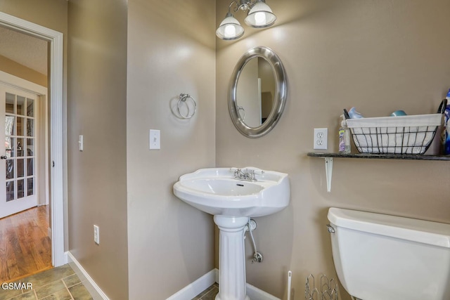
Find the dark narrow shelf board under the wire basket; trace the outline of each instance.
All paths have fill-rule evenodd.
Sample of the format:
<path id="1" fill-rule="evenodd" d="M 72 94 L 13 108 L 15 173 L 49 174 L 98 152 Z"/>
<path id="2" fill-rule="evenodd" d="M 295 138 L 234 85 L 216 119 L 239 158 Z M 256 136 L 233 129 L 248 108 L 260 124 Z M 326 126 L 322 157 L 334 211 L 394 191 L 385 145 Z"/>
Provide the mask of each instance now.
<path id="1" fill-rule="evenodd" d="M 342 158 L 365 158 L 365 159 L 412 159 L 412 160 L 449 160 L 450 155 L 414 155 L 414 154 L 361 154 L 361 153 L 324 153 L 309 152 L 309 157 L 342 157 Z"/>

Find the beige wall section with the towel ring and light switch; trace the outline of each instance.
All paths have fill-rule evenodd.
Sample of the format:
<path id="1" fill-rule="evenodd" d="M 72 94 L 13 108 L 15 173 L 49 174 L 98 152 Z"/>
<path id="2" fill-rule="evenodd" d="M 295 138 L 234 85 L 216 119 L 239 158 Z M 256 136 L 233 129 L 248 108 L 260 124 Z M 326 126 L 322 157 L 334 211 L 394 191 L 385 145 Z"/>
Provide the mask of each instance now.
<path id="1" fill-rule="evenodd" d="M 214 268 L 212 216 L 172 186 L 215 163 L 215 4 L 128 4 L 129 299 L 166 299 Z M 180 93 L 197 100 L 192 119 L 171 112 Z M 160 130 L 160 150 L 148 150 L 149 129 Z"/>

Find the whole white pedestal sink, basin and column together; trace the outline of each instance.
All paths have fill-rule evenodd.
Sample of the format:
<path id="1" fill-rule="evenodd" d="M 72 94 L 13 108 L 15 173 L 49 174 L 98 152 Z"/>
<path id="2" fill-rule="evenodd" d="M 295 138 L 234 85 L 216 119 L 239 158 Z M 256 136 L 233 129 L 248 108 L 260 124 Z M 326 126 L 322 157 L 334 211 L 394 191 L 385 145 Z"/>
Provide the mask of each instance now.
<path id="1" fill-rule="evenodd" d="M 249 300 L 245 289 L 245 226 L 250 216 L 267 216 L 288 206 L 288 174 L 254 167 L 200 169 L 181 176 L 174 184 L 174 194 L 214 215 L 219 227 L 216 300 Z"/>

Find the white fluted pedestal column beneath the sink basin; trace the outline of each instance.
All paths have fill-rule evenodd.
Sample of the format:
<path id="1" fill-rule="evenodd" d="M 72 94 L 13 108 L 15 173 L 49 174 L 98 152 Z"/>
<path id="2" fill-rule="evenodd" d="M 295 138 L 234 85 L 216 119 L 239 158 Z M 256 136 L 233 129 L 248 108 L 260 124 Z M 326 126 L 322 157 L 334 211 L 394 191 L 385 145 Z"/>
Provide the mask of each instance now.
<path id="1" fill-rule="evenodd" d="M 250 300 L 245 288 L 246 216 L 214 216 L 219 237 L 219 294 L 216 300 Z"/>

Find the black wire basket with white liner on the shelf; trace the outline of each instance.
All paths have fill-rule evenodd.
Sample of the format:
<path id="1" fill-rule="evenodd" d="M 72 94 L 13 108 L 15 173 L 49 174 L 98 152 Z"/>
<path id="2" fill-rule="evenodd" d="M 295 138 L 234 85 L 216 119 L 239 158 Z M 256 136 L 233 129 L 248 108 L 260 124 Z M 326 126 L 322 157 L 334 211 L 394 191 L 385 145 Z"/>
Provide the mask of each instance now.
<path id="1" fill-rule="evenodd" d="M 436 114 L 347 119 L 354 145 L 360 153 L 423 155 L 435 138 L 446 100 Z M 347 110 L 344 110 L 348 118 Z"/>

